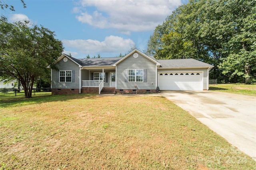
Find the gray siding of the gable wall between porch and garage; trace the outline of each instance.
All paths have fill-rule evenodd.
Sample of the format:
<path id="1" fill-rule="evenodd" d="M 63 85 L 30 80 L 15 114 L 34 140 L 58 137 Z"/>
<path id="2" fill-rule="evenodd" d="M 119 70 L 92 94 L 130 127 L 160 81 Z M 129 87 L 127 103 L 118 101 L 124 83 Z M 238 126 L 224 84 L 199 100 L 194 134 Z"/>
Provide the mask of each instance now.
<path id="1" fill-rule="evenodd" d="M 125 82 L 126 69 L 147 69 L 147 82 Z M 117 89 L 156 89 L 156 63 L 138 53 L 134 58 L 133 54 L 116 65 L 116 88 Z"/>

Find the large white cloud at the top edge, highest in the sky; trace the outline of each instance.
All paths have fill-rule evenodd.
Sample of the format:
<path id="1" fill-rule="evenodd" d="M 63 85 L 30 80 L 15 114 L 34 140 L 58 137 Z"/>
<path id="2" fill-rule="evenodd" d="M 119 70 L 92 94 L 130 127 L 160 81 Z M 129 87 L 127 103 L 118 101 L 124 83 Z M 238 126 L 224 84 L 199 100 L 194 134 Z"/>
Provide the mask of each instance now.
<path id="1" fill-rule="evenodd" d="M 129 34 L 154 30 L 181 4 L 181 0 L 82 0 L 73 11 L 79 13 L 76 19 L 82 23 Z M 90 7 L 96 10 L 90 11 Z"/>

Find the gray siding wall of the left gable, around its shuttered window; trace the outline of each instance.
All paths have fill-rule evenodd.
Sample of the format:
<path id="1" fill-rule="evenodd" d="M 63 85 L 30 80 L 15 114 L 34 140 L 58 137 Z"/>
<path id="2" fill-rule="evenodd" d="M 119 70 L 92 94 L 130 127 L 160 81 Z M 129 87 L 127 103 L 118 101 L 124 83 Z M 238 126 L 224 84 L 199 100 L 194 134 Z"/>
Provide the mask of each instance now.
<path id="1" fill-rule="evenodd" d="M 56 66 L 60 71 L 73 70 L 74 71 L 74 82 L 59 82 L 59 71 L 52 69 L 52 88 L 79 88 L 79 67 L 78 64 L 74 63 L 70 59 L 64 62 L 61 59 Z M 58 79 L 58 81 L 57 81 Z"/>

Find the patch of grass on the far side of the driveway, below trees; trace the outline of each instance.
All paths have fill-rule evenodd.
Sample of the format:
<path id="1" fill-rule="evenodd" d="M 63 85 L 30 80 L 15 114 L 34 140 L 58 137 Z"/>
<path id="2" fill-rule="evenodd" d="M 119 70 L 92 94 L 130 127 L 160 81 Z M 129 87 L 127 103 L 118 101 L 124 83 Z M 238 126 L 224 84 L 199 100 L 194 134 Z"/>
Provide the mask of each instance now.
<path id="1" fill-rule="evenodd" d="M 256 84 L 210 84 L 209 90 L 256 96 Z"/>

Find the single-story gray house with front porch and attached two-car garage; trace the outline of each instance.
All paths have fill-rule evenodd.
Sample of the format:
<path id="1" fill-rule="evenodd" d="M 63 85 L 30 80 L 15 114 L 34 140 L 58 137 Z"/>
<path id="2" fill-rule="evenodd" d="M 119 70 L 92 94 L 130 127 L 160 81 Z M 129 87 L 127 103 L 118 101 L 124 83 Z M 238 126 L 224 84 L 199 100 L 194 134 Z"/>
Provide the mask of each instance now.
<path id="1" fill-rule="evenodd" d="M 154 93 L 208 90 L 210 64 L 195 59 L 156 60 L 135 49 L 125 57 L 75 59 L 66 54 L 51 69 L 52 94 Z M 48 66 L 50 68 L 50 66 Z M 110 91 L 105 91 L 110 92 Z"/>

